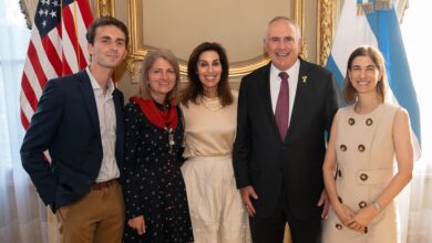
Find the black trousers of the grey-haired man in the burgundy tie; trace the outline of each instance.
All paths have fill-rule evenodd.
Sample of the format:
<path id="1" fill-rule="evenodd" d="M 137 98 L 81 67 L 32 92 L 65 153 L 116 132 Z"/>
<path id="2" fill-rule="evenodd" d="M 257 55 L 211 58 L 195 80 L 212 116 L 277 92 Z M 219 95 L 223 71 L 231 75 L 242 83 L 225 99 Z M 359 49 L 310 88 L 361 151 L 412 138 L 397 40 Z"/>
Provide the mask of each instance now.
<path id="1" fill-rule="evenodd" d="M 321 242 L 321 218 L 318 215 L 309 220 L 297 219 L 289 207 L 284 187 L 278 205 L 271 216 L 249 216 L 253 242 L 282 243 L 286 223 L 288 223 L 291 231 L 292 243 Z"/>

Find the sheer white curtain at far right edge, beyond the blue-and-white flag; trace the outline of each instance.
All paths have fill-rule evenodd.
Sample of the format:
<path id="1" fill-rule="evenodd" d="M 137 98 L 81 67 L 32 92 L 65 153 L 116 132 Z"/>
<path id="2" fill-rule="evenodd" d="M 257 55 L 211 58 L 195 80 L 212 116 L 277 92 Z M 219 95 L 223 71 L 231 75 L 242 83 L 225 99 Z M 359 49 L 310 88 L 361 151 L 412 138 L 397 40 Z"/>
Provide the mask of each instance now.
<path id="1" fill-rule="evenodd" d="M 401 31 L 415 86 L 422 130 L 422 157 L 414 162 L 408 220 L 408 243 L 432 242 L 432 88 L 430 34 L 424 27 L 432 22 L 431 1 L 410 1 Z"/>

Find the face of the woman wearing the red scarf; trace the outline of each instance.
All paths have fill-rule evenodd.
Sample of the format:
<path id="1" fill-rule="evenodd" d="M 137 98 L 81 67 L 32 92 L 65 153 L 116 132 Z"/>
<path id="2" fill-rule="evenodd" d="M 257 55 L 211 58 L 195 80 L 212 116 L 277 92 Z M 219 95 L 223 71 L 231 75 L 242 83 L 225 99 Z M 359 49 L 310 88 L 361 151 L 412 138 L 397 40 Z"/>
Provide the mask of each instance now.
<path id="1" fill-rule="evenodd" d="M 163 104 L 166 95 L 173 91 L 176 82 L 176 74 L 171 63 L 162 57 L 154 61 L 148 71 L 148 85 L 151 96 Z"/>

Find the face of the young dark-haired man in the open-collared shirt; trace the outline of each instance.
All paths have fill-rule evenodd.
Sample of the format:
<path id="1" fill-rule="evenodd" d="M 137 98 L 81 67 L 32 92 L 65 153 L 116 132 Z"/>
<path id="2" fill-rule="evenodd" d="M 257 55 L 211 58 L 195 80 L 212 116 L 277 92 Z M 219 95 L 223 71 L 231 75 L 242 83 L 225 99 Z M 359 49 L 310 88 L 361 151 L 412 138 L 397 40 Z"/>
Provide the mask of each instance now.
<path id="1" fill-rule="evenodd" d="M 89 43 L 88 50 L 92 68 L 112 70 L 126 57 L 126 36 L 115 25 L 99 27 L 94 43 Z"/>

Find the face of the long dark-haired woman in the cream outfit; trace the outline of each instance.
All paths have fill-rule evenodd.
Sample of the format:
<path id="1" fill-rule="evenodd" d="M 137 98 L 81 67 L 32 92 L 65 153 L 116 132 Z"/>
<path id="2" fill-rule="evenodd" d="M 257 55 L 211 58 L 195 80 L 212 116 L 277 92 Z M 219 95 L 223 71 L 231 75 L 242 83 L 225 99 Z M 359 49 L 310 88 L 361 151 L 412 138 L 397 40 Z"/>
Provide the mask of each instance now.
<path id="1" fill-rule="evenodd" d="M 198 57 L 196 70 L 204 91 L 217 95 L 217 85 L 219 84 L 222 74 L 222 64 L 217 52 L 203 52 Z"/>

